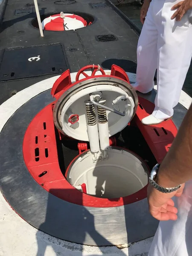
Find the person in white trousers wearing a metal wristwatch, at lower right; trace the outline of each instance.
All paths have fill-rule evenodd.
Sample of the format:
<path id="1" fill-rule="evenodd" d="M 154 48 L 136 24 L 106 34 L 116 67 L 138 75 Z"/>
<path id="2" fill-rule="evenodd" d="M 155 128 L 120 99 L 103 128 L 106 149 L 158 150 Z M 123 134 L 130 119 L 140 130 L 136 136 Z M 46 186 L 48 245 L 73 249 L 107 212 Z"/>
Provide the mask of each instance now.
<path id="1" fill-rule="evenodd" d="M 182 185 L 171 193 L 148 186 L 149 211 L 160 220 L 148 256 L 192 256 L 192 105 L 159 167 L 156 183 L 163 188 Z"/>

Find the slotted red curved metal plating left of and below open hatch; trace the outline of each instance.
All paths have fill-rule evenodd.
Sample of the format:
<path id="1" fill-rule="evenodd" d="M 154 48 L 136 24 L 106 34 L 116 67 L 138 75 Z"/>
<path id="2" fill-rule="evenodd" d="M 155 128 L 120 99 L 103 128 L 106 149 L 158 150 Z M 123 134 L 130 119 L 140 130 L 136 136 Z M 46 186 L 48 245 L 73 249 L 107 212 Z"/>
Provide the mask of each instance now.
<path id="1" fill-rule="evenodd" d="M 48 192 L 54 191 L 58 198 L 73 204 L 87 207 L 118 207 L 140 201 L 147 196 L 147 186 L 133 195 L 114 199 L 96 198 L 74 188 L 62 175 L 59 167 L 52 104 L 41 110 L 29 124 L 23 139 L 23 158 L 27 169 L 38 184 Z M 69 189 L 70 193 L 67 192 Z"/>

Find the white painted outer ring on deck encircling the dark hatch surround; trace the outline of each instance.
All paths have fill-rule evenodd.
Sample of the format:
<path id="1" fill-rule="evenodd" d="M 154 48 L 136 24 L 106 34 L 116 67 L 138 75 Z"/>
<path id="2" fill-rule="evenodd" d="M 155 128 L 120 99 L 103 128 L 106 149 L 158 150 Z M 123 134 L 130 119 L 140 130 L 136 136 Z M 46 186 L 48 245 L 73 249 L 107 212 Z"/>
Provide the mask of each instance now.
<path id="1" fill-rule="evenodd" d="M 91 71 L 85 73 L 89 76 L 91 75 Z M 106 75 L 110 75 L 111 71 L 106 70 L 105 73 Z M 75 82 L 76 74 L 77 72 L 71 73 L 72 82 Z M 131 83 L 136 82 L 136 74 L 127 73 L 127 75 Z M 3 104 L 0 105 L 0 131 L 2 131 L 6 122 L 17 109 L 38 94 L 51 89 L 58 77 L 59 76 L 54 76 L 33 84 L 30 87 L 21 90 L 6 102 L 3 102 Z M 80 79 L 82 78 L 83 76 L 80 76 Z M 157 89 L 157 86 L 155 86 L 154 89 Z M 192 103 L 192 98 L 182 91 L 179 103 L 186 109 L 189 109 Z M 125 244 L 124 248 L 119 250 L 116 246 L 93 247 L 63 241 L 38 231 L 35 227 L 32 227 L 20 218 L 20 216 L 18 216 L 9 206 L 1 193 L 0 212 L 0 256 L 37 256 L 38 253 L 44 256 L 55 256 L 58 253 L 61 256 L 119 256 L 119 254 L 122 254 L 123 256 L 135 256 L 138 254 L 147 255 L 152 242 L 152 238 L 149 238 L 131 244 L 130 247 L 128 247 L 128 244 Z"/>

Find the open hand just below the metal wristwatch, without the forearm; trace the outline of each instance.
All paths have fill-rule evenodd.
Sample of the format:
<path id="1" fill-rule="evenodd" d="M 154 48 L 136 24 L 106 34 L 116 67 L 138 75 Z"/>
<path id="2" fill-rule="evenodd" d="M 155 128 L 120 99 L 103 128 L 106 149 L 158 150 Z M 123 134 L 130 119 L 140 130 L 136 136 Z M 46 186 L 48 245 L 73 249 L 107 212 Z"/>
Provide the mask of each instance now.
<path id="1" fill-rule="evenodd" d="M 174 207 L 174 196 L 181 196 L 184 184 L 172 193 L 163 193 L 155 189 L 151 184 L 148 185 L 148 205 L 151 215 L 159 221 L 177 219 L 177 208 Z"/>

